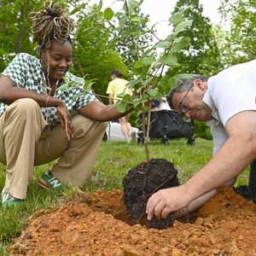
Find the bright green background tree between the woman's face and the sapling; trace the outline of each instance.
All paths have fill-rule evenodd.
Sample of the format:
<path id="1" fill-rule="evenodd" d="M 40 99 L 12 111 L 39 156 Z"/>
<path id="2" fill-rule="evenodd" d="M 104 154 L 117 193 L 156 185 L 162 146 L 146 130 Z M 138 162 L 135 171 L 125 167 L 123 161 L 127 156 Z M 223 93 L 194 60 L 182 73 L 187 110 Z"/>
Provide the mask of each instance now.
<path id="1" fill-rule="evenodd" d="M 110 40 L 108 30 L 101 26 L 91 29 L 90 23 L 84 20 L 84 13 L 90 16 L 94 12 L 94 7 L 89 6 L 86 10 L 84 9 L 83 14 L 78 16 L 73 52 L 79 64 L 73 60 L 73 73 L 78 76 L 85 75 L 86 79 L 96 79 L 92 86 L 93 90 L 101 96 L 102 102 L 108 104 L 106 90 L 110 81 L 110 71 L 118 68 L 128 79 L 128 70 L 119 54 L 114 51 L 113 45 L 108 43 Z"/>

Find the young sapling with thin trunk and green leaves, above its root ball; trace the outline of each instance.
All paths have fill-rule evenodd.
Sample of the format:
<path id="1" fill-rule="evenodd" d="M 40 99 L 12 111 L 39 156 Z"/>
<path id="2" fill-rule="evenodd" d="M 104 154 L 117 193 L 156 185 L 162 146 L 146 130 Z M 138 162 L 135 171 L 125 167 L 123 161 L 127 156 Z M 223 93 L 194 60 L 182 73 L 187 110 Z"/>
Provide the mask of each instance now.
<path id="1" fill-rule="evenodd" d="M 145 49 L 139 44 L 137 38 L 143 37 L 145 34 L 154 35 L 154 30 L 144 31 L 143 27 L 147 27 L 148 20 L 144 20 L 143 17 L 137 15 L 136 9 L 140 7 L 143 0 L 140 2 L 124 0 L 123 9 L 119 13 L 114 14 L 113 10 L 110 8 L 102 10 L 102 1 L 99 6 L 96 6 L 96 11 L 91 15 L 84 16 L 84 20 L 90 26 L 90 31 L 94 32 L 97 28 L 105 28 L 111 33 L 113 38 L 117 41 L 125 43 L 128 48 L 133 49 L 132 55 L 136 61 L 131 65 L 130 71 L 132 74 L 132 79 L 128 83 L 130 89 L 134 90 L 136 94 L 131 96 L 130 94 L 125 94 L 123 92 L 119 95 L 122 99 L 115 103 L 117 109 L 120 113 L 124 113 L 126 109 L 132 107 L 137 111 L 137 118 L 141 120 L 143 127 L 143 138 L 145 145 L 145 154 L 147 158 L 147 163 L 149 165 L 149 155 L 148 155 L 148 135 L 149 135 L 149 125 L 150 125 L 150 113 L 151 108 L 148 106 L 148 102 L 153 100 L 158 100 L 162 94 L 156 89 L 158 84 L 163 80 L 163 74 L 165 67 L 177 66 L 177 56 L 176 54 L 183 50 L 189 45 L 189 38 L 184 38 L 180 36 L 179 33 L 183 32 L 191 23 L 192 20 L 187 20 L 187 17 L 183 15 L 183 12 L 174 13 L 169 21 L 175 28 L 172 33 L 167 35 L 166 38 L 159 39 L 152 45 Z M 72 4 L 72 3 L 71 3 Z M 111 23 L 112 18 L 117 18 L 118 26 Z M 107 26 L 105 26 L 105 23 Z M 122 31 L 124 26 L 134 27 L 139 23 L 145 23 L 144 26 L 137 26 L 137 31 L 125 31 L 126 36 L 132 33 L 132 41 L 130 45 L 122 37 L 119 31 Z M 109 26 L 108 26 L 109 25 Z M 153 26 L 154 27 L 154 26 Z M 147 37 L 148 38 L 148 37 Z M 135 45 L 135 46 L 134 46 Z M 160 54 L 158 54 L 160 50 Z M 140 54 L 142 53 L 142 55 Z M 189 77 L 188 75 L 183 75 L 184 77 Z M 90 87 L 90 80 L 84 84 L 84 91 L 88 90 Z M 62 88 L 67 88 L 69 84 L 63 84 Z M 68 90 L 68 89 L 67 89 Z M 145 104 L 147 103 L 147 104 Z M 146 112 L 148 116 L 146 117 Z M 147 127 L 147 129 L 146 129 Z"/>

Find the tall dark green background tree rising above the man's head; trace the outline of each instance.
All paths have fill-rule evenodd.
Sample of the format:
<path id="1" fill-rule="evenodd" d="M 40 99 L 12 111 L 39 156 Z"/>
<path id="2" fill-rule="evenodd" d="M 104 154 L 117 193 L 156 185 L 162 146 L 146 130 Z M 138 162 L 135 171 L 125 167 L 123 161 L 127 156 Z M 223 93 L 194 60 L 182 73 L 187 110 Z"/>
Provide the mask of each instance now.
<path id="1" fill-rule="evenodd" d="M 169 69 L 167 74 L 216 74 L 222 68 L 220 53 L 212 31 L 212 24 L 209 18 L 202 15 L 203 7 L 199 0 L 179 0 L 174 11 L 186 9 L 189 6 L 185 15 L 193 22 L 189 30 L 182 32 L 182 35 L 190 38 L 190 44 L 186 50 L 177 55 L 180 66 Z"/>

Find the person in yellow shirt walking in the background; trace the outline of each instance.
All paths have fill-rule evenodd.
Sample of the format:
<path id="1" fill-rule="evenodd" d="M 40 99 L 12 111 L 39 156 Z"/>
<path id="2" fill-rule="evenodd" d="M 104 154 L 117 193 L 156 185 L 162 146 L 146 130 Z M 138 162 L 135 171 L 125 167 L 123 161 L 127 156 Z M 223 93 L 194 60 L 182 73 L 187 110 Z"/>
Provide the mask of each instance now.
<path id="1" fill-rule="evenodd" d="M 127 80 L 122 79 L 123 73 L 121 73 L 118 69 L 113 69 L 110 72 L 110 78 L 112 81 L 108 84 L 107 94 L 109 104 L 113 104 L 119 100 L 118 96 L 120 93 L 125 91 L 125 93 L 130 93 L 132 95 L 132 91 L 126 86 L 128 83 Z M 131 129 L 131 124 L 129 123 L 131 113 L 126 114 L 125 116 L 119 118 L 119 124 L 121 125 L 121 130 L 125 136 L 126 142 L 131 143 L 136 141 L 136 131 Z"/>

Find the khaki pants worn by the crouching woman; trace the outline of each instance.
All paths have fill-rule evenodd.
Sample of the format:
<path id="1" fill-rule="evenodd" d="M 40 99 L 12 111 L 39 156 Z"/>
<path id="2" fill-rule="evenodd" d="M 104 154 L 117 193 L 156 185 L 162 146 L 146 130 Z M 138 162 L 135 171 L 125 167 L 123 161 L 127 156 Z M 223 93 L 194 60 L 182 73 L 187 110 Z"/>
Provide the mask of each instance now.
<path id="1" fill-rule="evenodd" d="M 90 177 L 107 123 L 72 117 L 74 138 L 67 140 L 61 124 L 46 126 L 38 103 L 32 99 L 13 102 L 0 117 L 0 162 L 6 165 L 4 189 L 26 198 L 33 166 L 59 158 L 52 174 L 65 183 L 82 186 Z"/>

